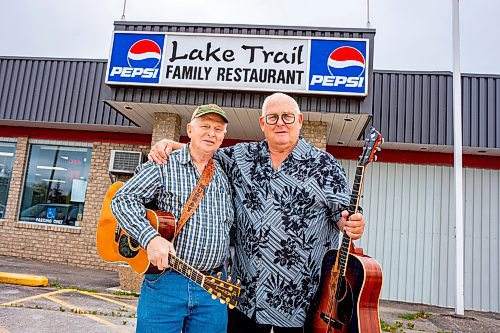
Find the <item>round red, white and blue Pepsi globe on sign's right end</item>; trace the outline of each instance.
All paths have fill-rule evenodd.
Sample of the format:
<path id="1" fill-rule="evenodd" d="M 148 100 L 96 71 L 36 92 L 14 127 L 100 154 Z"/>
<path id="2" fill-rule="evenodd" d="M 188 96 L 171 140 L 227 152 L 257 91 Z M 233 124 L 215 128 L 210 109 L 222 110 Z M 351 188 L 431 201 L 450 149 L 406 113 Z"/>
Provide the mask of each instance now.
<path id="1" fill-rule="evenodd" d="M 365 71 L 365 58 L 351 46 L 341 46 L 328 57 L 328 71 L 332 76 L 360 77 Z"/>

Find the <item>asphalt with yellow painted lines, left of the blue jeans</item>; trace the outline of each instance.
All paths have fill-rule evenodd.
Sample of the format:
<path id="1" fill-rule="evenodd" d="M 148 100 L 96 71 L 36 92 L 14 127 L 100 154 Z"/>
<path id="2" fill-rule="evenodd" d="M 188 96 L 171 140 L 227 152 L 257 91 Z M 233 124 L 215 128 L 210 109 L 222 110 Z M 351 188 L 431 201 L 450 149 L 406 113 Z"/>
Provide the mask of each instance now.
<path id="1" fill-rule="evenodd" d="M 0 284 L 0 333 L 135 332 L 137 297 Z"/>

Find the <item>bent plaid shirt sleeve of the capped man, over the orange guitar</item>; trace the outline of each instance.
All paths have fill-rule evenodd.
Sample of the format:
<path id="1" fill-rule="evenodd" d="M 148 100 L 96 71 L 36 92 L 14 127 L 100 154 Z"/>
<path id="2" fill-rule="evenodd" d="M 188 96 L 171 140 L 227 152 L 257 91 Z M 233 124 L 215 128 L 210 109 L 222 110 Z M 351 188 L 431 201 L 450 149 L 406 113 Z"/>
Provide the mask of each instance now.
<path id="1" fill-rule="evenodd" d="M 160 168 L 151 162 L 145 163 L 111 200 L 111 210 L 118 223 L 143 248 L 159 235 L 145 217 L 144 203 L 153 200 L 163 186 Z"/>

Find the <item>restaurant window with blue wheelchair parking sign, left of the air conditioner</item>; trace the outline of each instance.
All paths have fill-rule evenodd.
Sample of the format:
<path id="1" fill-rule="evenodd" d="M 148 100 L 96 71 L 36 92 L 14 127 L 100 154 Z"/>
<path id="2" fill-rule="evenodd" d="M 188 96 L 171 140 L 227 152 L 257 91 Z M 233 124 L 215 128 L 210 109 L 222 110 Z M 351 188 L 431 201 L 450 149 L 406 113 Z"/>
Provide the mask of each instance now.
<path id="1" fill-rule="evenodd" d="M 80 226 L 90 148 L 31 145 L 19 220 Z"/>

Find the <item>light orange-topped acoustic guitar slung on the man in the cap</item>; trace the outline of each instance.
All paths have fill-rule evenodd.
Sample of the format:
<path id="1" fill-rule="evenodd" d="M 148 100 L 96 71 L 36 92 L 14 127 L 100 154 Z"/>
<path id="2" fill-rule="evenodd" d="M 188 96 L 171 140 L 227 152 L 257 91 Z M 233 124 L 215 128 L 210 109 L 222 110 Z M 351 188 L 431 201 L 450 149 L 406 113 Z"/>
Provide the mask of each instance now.
<path id="1" fill-rule="evenodd" d="M 161 273 L 156 266 L 149 262 L 146 250 L 120 228 L 111 212 L 111 199 L 122 186 L 122 182 L 112 184 L 104 197 L 97 225 L 97 252 L 102 259 L 108 262 L 128 263 L 139 274 Z M 176 221 L 171 213 L 146 209 L 146 218 L 162 237 L 169 241 L 172 240 Z M 203 287 L 212 295 L 213 299 L 219 298 L 221 303 L 227 303 L 231 309 L 238 303 L 241 288 L 238 286 L 239 283 L 236 285 L 230 283 L 230 277 L 224 281 L 221 279 L 221 273 L 218 277 L 204 275 L 172 254 L 168 256 L 168 263 L 172 269 Z"/>

